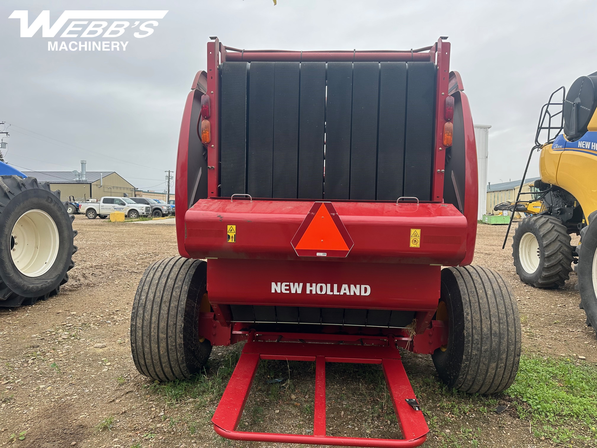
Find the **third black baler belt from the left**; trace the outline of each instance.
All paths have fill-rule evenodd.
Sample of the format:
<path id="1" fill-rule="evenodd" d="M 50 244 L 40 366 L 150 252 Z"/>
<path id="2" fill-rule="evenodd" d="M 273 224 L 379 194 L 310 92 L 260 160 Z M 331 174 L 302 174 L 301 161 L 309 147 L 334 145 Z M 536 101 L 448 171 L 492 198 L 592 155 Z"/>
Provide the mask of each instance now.
<path id="1" fill-rule="evenodd" d="M 276 62 L 273 98 L 274 198 L 296 198 L 298 179 L 298 62 Z"/>

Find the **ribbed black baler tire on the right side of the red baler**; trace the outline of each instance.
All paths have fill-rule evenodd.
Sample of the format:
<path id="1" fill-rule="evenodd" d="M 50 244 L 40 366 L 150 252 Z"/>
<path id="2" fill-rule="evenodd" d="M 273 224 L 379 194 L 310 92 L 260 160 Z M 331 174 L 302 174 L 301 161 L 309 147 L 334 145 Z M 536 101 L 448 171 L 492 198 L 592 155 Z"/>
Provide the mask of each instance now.
<path id="1" fill-rule="evenodd" d="M 440 300 L 448 312 L 448 344 L 432 355 L 439 378 L 469 394 L 509 388 L 518 372 L 521 324 L 501 275 L 481 266 L 444 268 Z"/>

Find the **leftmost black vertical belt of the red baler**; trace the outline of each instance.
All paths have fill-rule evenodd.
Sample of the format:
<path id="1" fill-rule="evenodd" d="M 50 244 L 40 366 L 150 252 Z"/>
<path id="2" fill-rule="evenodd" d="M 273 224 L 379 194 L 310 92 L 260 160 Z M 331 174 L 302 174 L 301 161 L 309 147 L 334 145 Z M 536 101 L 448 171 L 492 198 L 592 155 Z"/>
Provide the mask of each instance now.
<path id="1" fill-rule="evenodd" d="M 211 117 L 210 117 L 211 118 Z M 247 63 L 221 67 L 221 196 L 245 193 Z M 207 176 L 207 173 L 203 174 Z"/>

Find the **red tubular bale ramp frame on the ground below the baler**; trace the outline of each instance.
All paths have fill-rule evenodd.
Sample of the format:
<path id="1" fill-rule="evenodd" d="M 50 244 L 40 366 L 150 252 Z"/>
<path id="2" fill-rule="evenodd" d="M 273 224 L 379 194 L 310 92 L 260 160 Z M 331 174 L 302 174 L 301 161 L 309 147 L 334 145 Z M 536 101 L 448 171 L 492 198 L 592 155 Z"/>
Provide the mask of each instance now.
<path id="1" fill-rule="evenodd" d="M 282 335 L 281 335 L 282 336 Z M 339 336 L 338 336 L 339 337 Z M 338 342 L 338 341 L 330 341 Z M 393 338 L 387 346 L 343 345 L 338 343 L 256 342 L 245 345 L 232 378 L 211 421 L 215 431 L 225 438 L 245 441 L 321 444 L 362 447 L 416 447 L 423 444 L 429 432 L 421 410 L 415 410 L 407 400 L 415 399 L 413 388 L 402 366 L 400 353 Z M 315 415 L 313 435 L 276 434 L 236 431 L 247 403 L 251 385 L 261 359 L 315 361 Z M 326 435 L 325 423 L 325 363 L 381 364 L 392 395 L 403 439 L 338 437 Z M 416 401 L 415 401 L 416 403 Z"/>

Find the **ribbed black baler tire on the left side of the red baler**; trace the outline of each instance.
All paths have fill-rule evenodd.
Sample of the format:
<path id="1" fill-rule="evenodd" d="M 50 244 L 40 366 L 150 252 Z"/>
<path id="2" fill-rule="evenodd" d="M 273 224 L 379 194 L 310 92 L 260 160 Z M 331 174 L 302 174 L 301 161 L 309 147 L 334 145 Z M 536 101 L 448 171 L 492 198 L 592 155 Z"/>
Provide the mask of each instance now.
<path id="1" fill-rule="evenodd" d="M 141 375 L 159 381 L 199 373 L 211 343 L 199 336 L 199 306 L 207 290 L 207 263 L 183 257 L 147 268 L 131 312 L 131 351 Z"/>

